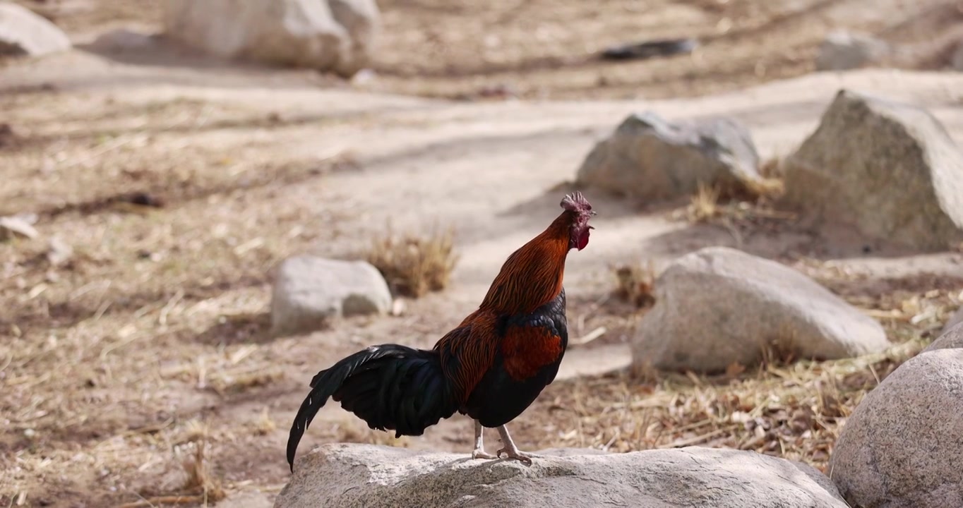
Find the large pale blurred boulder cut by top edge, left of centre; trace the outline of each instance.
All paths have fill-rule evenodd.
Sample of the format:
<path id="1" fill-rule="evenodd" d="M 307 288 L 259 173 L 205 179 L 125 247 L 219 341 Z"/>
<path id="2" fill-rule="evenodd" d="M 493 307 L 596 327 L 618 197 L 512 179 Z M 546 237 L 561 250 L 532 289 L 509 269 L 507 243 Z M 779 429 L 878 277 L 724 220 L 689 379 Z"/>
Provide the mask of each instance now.
<path id="1" fill-rule="evenodd" d="M 351 77 L 370 64 L 375 0 L 166 0 L 168 37 L 209 54 Z"/>

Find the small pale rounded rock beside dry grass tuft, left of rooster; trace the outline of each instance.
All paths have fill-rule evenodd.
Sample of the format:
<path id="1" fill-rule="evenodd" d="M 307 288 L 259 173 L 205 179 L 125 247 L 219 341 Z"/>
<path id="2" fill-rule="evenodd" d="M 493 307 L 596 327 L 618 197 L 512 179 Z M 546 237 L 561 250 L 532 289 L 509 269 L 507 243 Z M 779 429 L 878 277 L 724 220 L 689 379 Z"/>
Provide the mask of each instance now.
<path id="1" fill-rule="evenodd" d="M 275 335 L 317 330 L 331 318 L 384 314 L 391 292 L 376 267 L 301 255 L 277 268 L 271 301 Z"/>

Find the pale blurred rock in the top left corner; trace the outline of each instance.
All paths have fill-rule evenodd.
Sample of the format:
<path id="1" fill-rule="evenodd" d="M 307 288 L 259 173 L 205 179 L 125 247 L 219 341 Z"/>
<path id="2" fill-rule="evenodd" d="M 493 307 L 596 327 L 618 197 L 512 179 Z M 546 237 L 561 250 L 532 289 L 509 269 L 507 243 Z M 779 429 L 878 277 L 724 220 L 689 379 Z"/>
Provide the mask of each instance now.
<path id="1" fill-rule="evenodd" d="M 13 2 L 0 2 L 0 55 L 39 57 L 70 47 L 57 25 Z"/>

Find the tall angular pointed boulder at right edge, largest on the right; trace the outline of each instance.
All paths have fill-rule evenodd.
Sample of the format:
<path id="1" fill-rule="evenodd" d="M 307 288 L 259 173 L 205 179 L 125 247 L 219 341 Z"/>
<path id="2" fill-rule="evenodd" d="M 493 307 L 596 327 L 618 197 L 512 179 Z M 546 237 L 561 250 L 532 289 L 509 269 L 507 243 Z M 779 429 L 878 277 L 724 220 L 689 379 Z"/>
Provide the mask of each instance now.
<path id="1" fill-rule="evenodd" d="M 787 207 L 922 251 L 963 241 L 963 153 L 923 109 L 841 90 L 789 157 Z"/>

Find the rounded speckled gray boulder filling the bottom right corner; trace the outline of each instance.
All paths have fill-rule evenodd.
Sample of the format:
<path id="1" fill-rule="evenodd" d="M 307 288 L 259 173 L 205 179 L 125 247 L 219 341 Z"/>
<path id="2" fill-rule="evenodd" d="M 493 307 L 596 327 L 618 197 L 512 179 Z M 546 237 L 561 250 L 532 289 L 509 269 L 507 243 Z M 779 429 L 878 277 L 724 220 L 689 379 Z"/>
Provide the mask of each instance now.
<path id="1" fill-rule="evenodd" d="M 867 394 L 829 475 L 864 508 L 963 506 L 963 349 L 911 358 Z"/>

